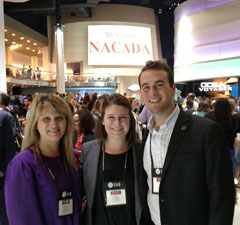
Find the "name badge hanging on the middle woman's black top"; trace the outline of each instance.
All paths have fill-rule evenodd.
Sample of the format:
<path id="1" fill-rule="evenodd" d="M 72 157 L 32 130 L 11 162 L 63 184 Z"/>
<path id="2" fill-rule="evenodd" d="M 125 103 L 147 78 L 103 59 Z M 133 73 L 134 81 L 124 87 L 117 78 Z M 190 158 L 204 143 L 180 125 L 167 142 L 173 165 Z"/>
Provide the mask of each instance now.
<path id="1" fill-rule="evenodd" d="M 106 182 L 104 184 L 105 206 L 126 205 L 126 184 L 124 181 Z"/>

